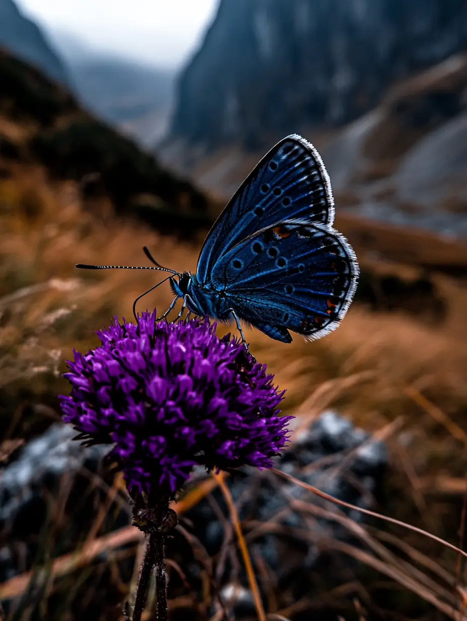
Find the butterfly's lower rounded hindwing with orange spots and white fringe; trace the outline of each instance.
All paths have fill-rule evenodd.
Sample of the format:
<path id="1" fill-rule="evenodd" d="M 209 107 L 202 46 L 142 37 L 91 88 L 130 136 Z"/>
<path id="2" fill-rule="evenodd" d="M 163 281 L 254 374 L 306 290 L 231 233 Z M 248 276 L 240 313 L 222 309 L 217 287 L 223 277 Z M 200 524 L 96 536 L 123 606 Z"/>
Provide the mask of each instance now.
<path id="1" fill-rule="evenodd" d="M 238 243 L 215 264 L 211 284 L 241 319 L 290 342 L 336 329 L 357 287 L 358 264 L 343 235 L 321 223 L 285 221 Z"/>

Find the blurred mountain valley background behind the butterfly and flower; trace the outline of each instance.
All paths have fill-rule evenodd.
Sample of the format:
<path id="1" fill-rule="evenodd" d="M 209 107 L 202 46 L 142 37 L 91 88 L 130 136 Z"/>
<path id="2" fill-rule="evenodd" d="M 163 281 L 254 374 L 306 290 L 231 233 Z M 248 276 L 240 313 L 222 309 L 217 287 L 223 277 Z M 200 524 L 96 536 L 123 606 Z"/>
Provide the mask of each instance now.
<path id="1" fill-rule="evenodd" d="M 318 342 L 247 330 L 298 417 L 278 467 L 463 548 L 467 1 L 0 0 L 5 619 L 123 619 L 141 553 L 121 479 L 71 442 L 57 395 L 72 348 L 154 282 L 74 264 L 146 265 L 147 245 L 194 271 L 229 197 L 295 132 L 362 276 Z M 161 287 L 140 310 L 170 301 Z M 228 510 L 197 480 L 167 550 L 172 619 L 257 619 Z M 465 619 L 463 558 L 441 543 L 265 473 L 230 485 L 271 621 Z"/>

